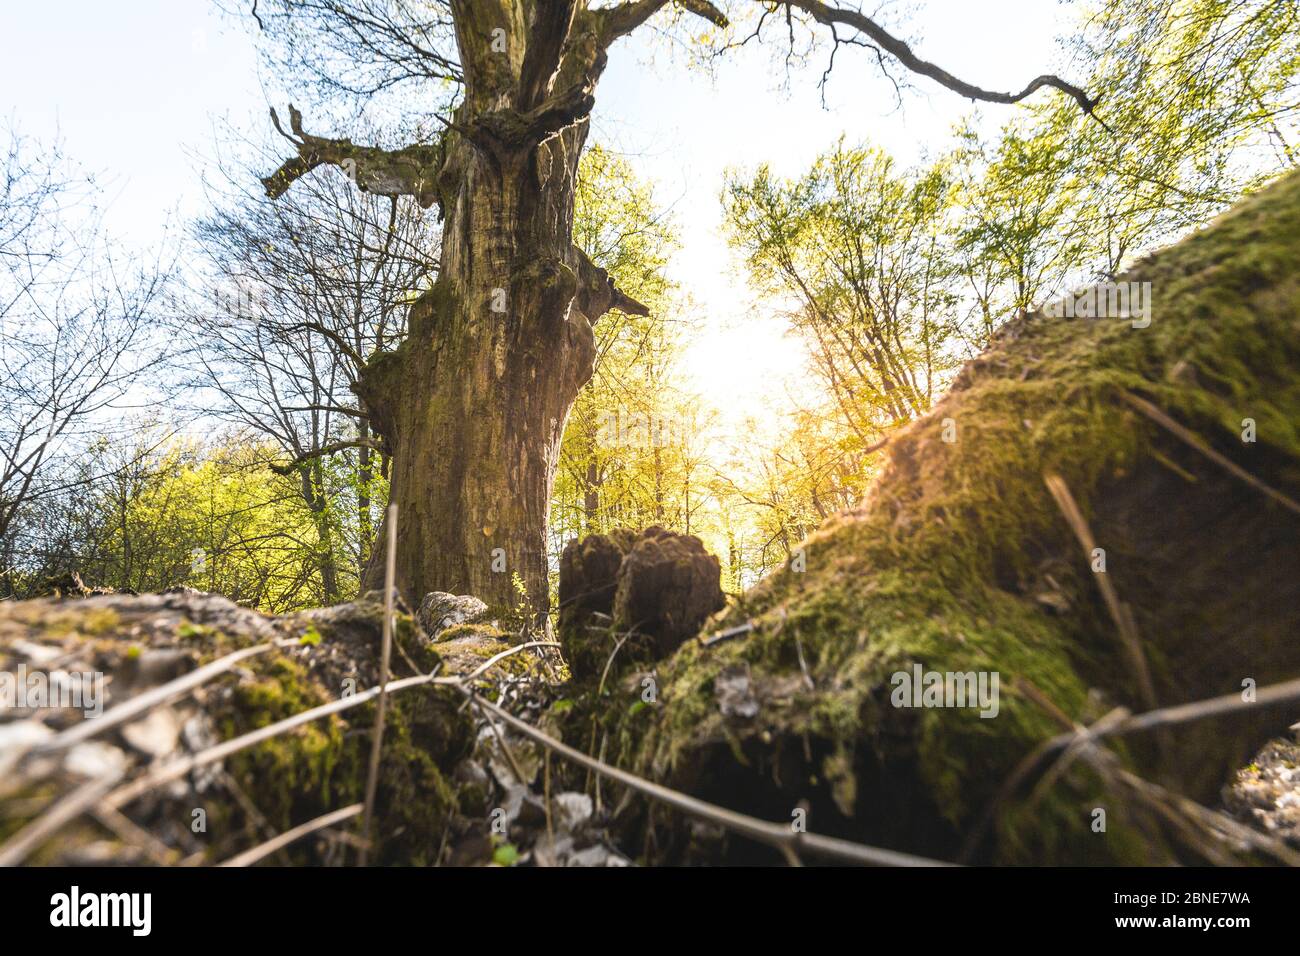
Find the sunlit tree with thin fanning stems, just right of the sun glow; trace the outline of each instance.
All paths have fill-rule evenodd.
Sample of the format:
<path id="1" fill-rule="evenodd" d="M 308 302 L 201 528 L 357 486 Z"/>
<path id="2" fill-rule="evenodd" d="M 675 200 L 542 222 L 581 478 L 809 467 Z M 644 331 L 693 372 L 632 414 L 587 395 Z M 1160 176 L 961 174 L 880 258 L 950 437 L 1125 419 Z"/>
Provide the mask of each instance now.
<path id="1" fill-rule="evenodd" d="M 924 412 L 954 365 L 954 297 L 940 168 L 905 172 L 840 143 L 790 182 L 732 177 L 732 242 L 792 328 L 862 447 Z"/>

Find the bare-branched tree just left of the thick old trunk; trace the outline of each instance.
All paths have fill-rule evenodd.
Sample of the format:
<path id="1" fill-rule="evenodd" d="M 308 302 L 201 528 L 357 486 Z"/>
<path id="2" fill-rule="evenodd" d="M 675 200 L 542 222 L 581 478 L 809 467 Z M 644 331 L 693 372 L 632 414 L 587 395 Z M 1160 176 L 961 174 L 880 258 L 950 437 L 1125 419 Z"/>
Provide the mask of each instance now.
<path id="1" fill-rule="evenodd" d="M 374 536 L 378 442 L 351 389 L 372 356 L 402 341 L 407 306 L 433 284 L 438 230 L 413 203 L 359 193 L 338 174 L 280 203 L 238 191 L 250 181 L 243 168 L 228 179 L 234 191 L 196 228 L 209 265 L 188 323 L 199 384 L 272 442 L 273 470 L 296 479 L 333 601 L 343 591 L 338 538 L 351 542 L 360 574 Z M 341 454 L 346 494 L 330 480 Z M 344 498 L 351 516 L 338 507 Z"/>

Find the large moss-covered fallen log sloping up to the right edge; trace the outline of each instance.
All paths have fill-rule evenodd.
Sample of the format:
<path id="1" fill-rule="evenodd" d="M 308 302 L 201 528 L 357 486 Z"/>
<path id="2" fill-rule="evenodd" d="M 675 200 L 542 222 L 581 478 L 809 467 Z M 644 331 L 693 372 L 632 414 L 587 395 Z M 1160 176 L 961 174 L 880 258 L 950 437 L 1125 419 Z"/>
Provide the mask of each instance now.
<path id="1" fill-rule="evenodd" d="M 1118 282 L 1150 284 L 1149 324 L 1009 323 L 893 437 L 868 502 L 711 626 L 750 631 L 660 661 L 653 706 L 636 704 L 645 675 L 624 675 L 620 692 L 571 709 L 572 737 L 599 727 L 610 758 L 670 786 L 768 819 L 802 808 L 815 831 L 945 860 L 989 808 L 974 861 L 1204 858 L 1083 762 L 1036 799 L 997 795 L 1062 714 L 1088 724 L 1152 696 L 1166 706 L 1300 674 L 1300 176 Z M 1089 533 L 1101 551 L 1080 544 Z M 894 675 L 918 665 L 997 674 L 996 717 L 894 706 Z M 1135 774 L 1217 804 L 1292 721 L 1261 709 L 1112 747 Z M 775 861 L 627 813 L 650 858 Z"/>

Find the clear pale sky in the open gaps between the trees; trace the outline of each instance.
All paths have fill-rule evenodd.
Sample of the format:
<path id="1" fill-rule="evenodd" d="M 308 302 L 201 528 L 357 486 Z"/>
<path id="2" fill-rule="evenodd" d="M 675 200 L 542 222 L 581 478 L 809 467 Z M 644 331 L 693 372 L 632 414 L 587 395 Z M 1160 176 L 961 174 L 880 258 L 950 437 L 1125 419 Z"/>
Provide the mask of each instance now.
<path id="1" fill-rule="evenodd" d="M 1053 38 L 1070 29 L 1072 10 L 1056 0 L 928 0 L 887 21 L 904 22 L 918 52 L 949 72 L 1018 88 L 1058 65 Z M 924 79 L 896 109 L 892 85 L 861 49 L 840 52 L 823 109 L 822 69 L 818 60 L 780 88 L 772 52 L 754 47 L 728 56 L 711 79 L 634 36 L 614 48 L 597 91 L 595 139 L 630 153 L 673 204 L 684 243 L 673 274 L 707 316 L 688 372 L 731 405 L 779 390 L 801 359 L 781 321 L 753 310 L 725 246 L 724 170 L 766 161 L 793 174 L 841 134 L 910 161 L 942 150 L 952 124 L 971 109 Z M 138 243 L 202 212 L 217 126 L 257 133 L 268 104 L 283 100 L 257 75 L 248 35 L 211 0 L 4 0 L 0 90 L 5 118 L 34 138 L 57 133 L 69 156 L 100 176 L 110 230 Z M 983 114 L 1000 124 L 1011 109 Z"/>

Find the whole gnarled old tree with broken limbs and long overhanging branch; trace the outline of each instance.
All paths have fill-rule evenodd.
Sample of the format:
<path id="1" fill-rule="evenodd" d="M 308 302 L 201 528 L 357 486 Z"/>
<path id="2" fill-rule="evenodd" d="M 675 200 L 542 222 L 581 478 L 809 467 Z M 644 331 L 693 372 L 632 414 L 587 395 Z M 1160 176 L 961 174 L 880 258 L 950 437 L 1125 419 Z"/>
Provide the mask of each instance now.
<path id="1" fill-rule="evenodd" d="M 411 306 L 407 339 L 374 355 L 356 389 L 391 455 L 398 587 L 408 598 L 439 589 L 547 606 L 547 502 L 566 418 L 592 376 L 593 325 L 610 310 L 645 313 L 573 243 L 578 156 L 611 46 L 656 14 L 716 27 L 744 18 L 751 38 L 771 22 L 790 43 L 796 29 L 811 30 L 975 100 L 1015 103 L 1054 87 L 1086 113 L 1095 105 L 1053 75 L 1019 92 L 971 86 L 855 9 L 818 0 L 254 4 L 259 27 L 296 51 L 290 60 L 317 57 L 322 82 L 335 70 L 326 86 L 363 96 L 408 81 L 456 91 L 438 135 L 399 150 L 309 133 L 291 107 L 289 129 L 280 117 L 276 126 L 296 155 L 264 181 L 274 198 L 335 165 L 363 190 L 412 196 L 443 219 L 438 278 Z M 382 549 L 374 554 L 364 587 L 382 580 Z"/>

